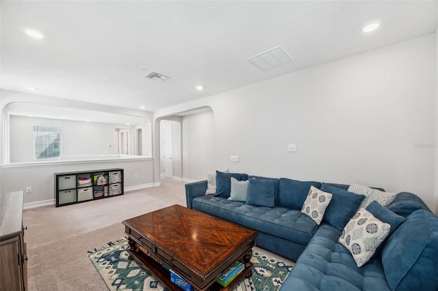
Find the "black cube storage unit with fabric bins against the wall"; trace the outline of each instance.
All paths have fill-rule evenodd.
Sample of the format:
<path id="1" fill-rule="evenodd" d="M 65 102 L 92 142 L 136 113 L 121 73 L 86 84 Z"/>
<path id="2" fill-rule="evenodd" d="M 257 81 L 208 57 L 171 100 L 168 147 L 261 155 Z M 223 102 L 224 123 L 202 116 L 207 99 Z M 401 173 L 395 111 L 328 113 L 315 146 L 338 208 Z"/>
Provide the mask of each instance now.
<path id="1" fill-rule="evenodd" d="M 55 174 L 56 207 L 123 195 L 123 169 Z"/>

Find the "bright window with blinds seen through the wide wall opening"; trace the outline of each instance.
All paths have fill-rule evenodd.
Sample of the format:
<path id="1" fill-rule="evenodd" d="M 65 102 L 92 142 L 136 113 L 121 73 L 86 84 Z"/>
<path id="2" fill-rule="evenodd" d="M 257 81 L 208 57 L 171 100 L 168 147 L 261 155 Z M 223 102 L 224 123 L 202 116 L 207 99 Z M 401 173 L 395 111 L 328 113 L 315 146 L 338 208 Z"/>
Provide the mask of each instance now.
<path id="1" fill-rule="evenodd" d="M 61 126 L 34 126 L 34 159 L 61 156 Z"/>

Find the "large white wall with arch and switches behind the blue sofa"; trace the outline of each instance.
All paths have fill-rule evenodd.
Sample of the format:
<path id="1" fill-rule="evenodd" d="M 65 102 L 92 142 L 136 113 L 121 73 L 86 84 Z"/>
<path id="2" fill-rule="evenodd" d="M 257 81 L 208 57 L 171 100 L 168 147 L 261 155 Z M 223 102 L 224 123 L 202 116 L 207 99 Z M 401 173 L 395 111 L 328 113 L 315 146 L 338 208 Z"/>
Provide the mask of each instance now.
<path id="1" fill-rule="evenodd" d="M 433 208 L 435 54 L 429 35 L 154 116 L 210 106 L 216 169 L 411 191 Z M 295 153 L 288 143 L 296 143 Z M 240 163 L 229 162 L 231 154 Z"/>

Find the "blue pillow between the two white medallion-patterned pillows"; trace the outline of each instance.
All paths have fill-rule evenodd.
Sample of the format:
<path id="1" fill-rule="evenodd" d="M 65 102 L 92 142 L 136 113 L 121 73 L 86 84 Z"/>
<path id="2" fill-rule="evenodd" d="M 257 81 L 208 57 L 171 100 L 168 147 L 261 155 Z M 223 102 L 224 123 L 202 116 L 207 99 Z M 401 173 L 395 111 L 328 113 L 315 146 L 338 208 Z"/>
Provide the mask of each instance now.
<path id="1" fill-rule="evenodd" d="M 326 183 L 322 183 L 321 190 L 333 194 L 322 221 L 327 221 L 338 230 L 344 230 L 345 225 L 356 214 L 365 195 L 351 193 Z"/>

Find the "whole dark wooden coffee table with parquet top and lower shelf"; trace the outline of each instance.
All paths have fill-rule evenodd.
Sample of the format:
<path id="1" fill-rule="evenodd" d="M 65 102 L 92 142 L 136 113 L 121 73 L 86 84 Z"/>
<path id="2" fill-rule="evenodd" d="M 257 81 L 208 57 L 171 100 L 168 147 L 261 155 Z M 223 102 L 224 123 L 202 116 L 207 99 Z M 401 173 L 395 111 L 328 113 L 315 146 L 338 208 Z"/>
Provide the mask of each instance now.
<path id="1" fill-rule="evenodd" d="M 169 290 L 172 269 L 196 290 L 231 290 L 252 274 L 252 248 L 257 232 L 179 205 L 123 221 L 129 255 L 151 271 Z M 147 254 L 146 254 L 147 253 Z M 215 283 L 234 262 L 244 271 L 227 288 Z M 164 266 L 167 268 L 165 268 Z"/>

